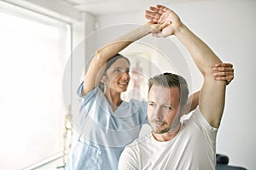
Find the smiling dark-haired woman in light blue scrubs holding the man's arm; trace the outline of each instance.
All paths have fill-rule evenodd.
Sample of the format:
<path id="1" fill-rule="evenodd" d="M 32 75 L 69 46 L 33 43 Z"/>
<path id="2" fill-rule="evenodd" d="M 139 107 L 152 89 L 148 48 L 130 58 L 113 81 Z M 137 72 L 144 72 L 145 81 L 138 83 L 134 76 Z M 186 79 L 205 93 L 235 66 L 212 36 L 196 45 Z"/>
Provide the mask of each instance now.
<path id="1" fill-rule="evenodd" d="M 164 27 L 147 23 L 96 51 L 79 87 L 82 127 L 66 169 L 118 169 L 125 145 L 137 139 L 142 125 L 148 122 L 145 101 L 125 102 L 120 97 L 130 82 L 130 61 L 118 53 L 131 42 L 160 32 Z M 220 71 L 217 77 L 231 80 L 232 65 L 219 68 L 225 66 L 228 71 Z M 197 99 L 193 100 L 196 105 Z"/>

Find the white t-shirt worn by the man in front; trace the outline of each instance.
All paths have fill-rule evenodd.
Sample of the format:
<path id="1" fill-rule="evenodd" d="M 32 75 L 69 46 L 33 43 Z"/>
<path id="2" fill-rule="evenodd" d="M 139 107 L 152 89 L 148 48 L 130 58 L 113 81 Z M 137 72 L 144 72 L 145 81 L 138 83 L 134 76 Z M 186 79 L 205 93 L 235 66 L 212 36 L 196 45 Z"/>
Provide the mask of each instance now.
<path id="1" fill-rule="evenodd" d="M 160 142 L 150 133 L 127 145 L 119 158 L 119 170 L 215 169 L 217 132 L 197 108 L 182 122 L 174 139 Z"/>

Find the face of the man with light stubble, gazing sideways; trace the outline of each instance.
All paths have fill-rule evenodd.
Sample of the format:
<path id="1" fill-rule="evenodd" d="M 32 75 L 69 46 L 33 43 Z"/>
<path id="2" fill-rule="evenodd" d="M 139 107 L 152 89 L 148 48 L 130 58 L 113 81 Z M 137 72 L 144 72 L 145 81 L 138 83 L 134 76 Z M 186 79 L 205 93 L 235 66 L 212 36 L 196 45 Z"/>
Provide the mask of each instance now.
<path id="1" fill-rule="evenodd" d="M 148 93 L 148 121 L 154 133 L 166 133 L 179 122 L 179 90 L 153 85 Z M 179 116 L 176 118 L 176 116 Z"/>

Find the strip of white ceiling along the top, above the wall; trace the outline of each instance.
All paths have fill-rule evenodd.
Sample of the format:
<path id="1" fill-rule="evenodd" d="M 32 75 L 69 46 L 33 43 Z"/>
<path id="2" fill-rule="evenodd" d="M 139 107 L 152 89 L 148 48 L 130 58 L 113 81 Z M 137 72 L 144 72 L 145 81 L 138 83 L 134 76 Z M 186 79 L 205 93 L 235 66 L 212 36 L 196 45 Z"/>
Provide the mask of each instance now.
<path id="1" fill-rule="evenodd" d="M 94 15 L 140 12 L 155 4 L 187 3 L 200 0 L 60 0 L 79 11 Z"/>

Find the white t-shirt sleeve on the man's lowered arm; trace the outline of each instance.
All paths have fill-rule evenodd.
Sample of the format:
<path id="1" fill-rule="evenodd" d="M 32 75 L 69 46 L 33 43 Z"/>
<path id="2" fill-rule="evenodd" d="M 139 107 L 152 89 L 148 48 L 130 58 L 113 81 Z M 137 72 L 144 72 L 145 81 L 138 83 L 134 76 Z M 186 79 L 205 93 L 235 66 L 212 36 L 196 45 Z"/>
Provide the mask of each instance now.
<path id="1" fill-rule="evenodd" d="M 137 170 L 137 156 L 133 153 L 131 148 L 128 146 L 125 147 L 125 150 L 122 152 L 119 157 L 119 170 Z"/>

